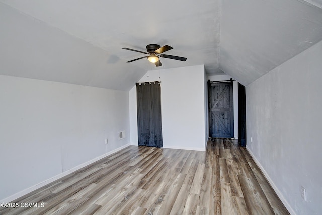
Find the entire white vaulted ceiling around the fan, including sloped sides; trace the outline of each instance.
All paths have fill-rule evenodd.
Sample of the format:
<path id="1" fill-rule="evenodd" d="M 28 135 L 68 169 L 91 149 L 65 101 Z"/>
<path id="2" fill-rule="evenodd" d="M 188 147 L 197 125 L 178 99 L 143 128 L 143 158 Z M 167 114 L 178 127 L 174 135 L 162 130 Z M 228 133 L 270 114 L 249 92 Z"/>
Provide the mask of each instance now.
<path id="1" fill-rule="evenodd" d="M 147 59 L 160 69 L 204 64 L 247 85 L 322 40 L 322 0 L 0 0 L 0 74 L 129 90 Z M 303 71 L 304 72 L 304 71 Z"/>

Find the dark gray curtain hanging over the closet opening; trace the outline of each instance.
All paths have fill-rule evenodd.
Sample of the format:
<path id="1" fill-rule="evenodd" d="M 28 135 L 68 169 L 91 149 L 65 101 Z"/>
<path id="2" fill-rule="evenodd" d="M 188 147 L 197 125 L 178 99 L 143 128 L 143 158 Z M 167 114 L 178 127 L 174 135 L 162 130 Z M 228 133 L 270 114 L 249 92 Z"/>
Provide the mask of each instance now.
<path id="1" fill-rule="evenodd" d="M 163 147 L 159 82 L 136 83 L 139 146 Z"/>

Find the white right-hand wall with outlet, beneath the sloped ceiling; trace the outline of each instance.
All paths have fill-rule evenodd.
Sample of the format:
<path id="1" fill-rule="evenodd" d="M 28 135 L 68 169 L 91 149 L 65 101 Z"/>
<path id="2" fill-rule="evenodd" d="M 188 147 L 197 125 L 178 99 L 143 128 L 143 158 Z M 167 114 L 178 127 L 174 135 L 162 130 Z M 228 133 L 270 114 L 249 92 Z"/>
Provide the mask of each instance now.
<path id="1" fill-rule="evenodd" d="M 319 42 L 246 87 L 247 149 L 293 214 L 322 211 L 321 56 Z"/>

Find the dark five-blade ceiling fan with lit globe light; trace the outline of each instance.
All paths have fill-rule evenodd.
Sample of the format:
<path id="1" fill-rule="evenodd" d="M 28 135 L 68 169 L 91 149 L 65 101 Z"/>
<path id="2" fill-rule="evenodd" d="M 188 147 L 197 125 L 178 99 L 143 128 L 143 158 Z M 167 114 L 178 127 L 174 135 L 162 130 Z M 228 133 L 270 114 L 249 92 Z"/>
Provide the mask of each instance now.
<path id="1" fill-rule="evenodd" d="M 187 58 L 186 57 L 179 57 L 179 56 L 174 56 L 174 55 L 168 55 L 168 54 L 161 54 L 163 52 L 169 51 L 171 49 L 173 49 L 173 47 L 169 46 L 169 45 L 165 45 L 165 46 L 160 46 L 157 44 L 149 44 L 146 46 L 146 52 L 144 51 L 138 51 L 138 50 L 134 50 L 134 49 L 130 49 L 130 48 L 122 48 L 125 50 L 130 50 L 130 51 L 136 51 L 136 52 L 140 52 L 143 54 L 148 54 L 149 56 L 144 56 L 144 57 L 140 57 L 134 60 L 130 60 L 127 61 L 127 63 L 136 61 L 136 60 L 140 60 L 143 58 L 147 58 L 151 63 L 154 63 L 156 66 L 162 66 L 159 57 L 164 57 L 164 58 L 169 58 L 169 59 L 173 59 L 173 60 L 181 60 L 181 61 L 186 61 Z"/>

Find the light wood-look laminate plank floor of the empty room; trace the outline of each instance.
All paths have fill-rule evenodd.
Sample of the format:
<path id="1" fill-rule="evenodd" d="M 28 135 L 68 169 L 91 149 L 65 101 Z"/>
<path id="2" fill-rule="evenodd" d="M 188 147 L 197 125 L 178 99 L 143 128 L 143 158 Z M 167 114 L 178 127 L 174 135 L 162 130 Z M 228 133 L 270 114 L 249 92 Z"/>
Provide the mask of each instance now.
<path id="1" fill-rule="evenodd" d="M 0 214 L 289 214 L 245 148 L 130 146 L 13 202 Z"/>

